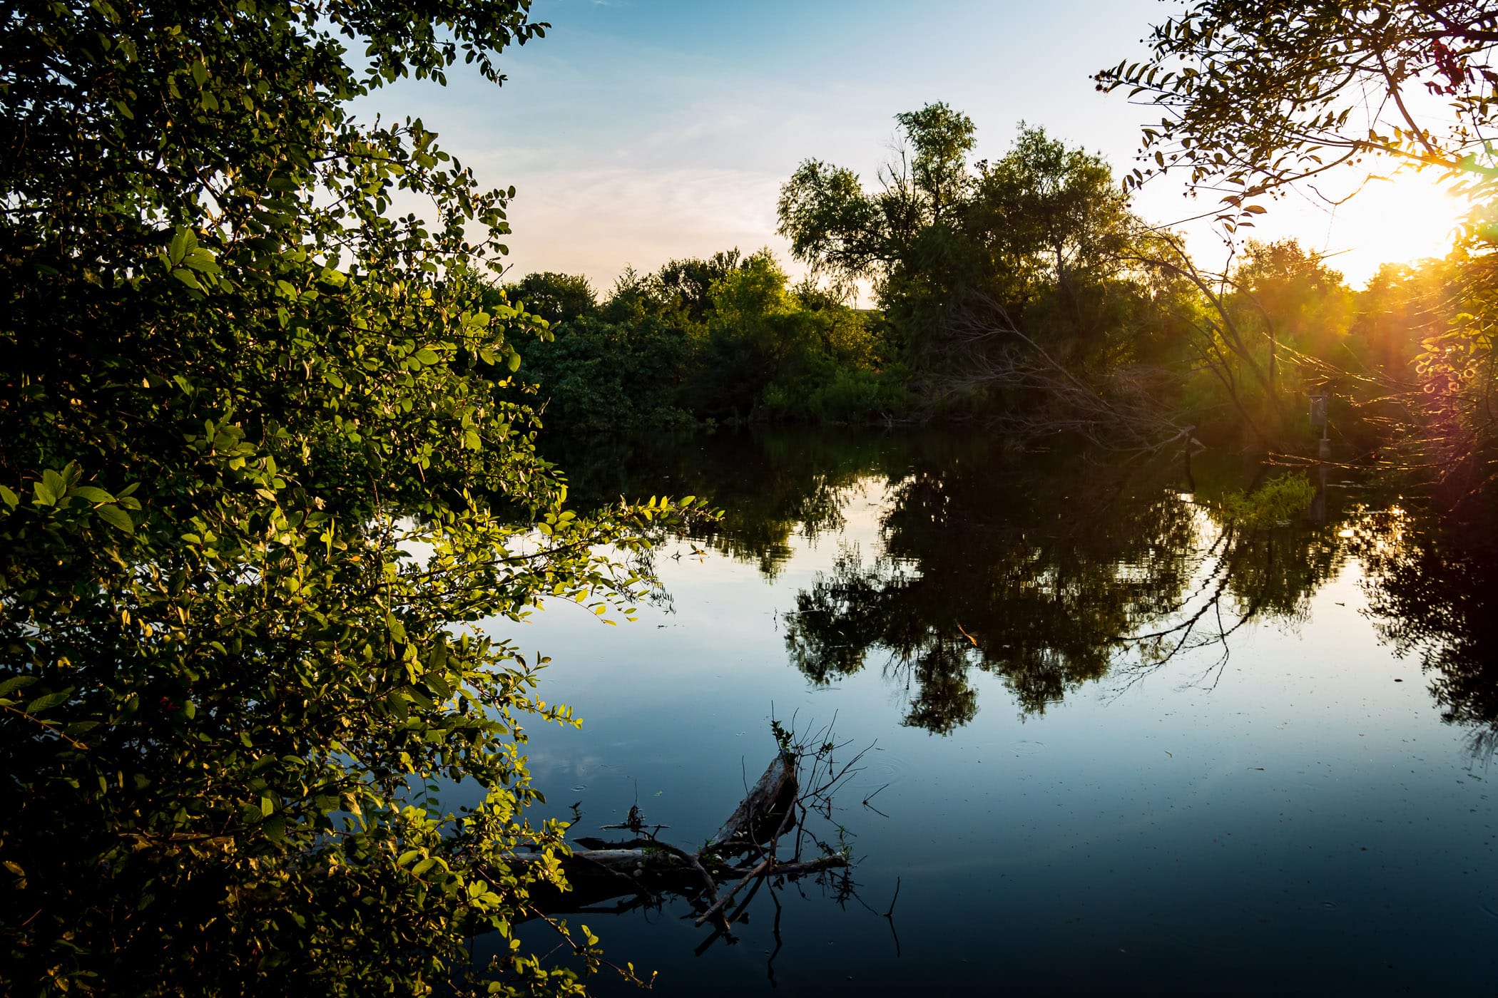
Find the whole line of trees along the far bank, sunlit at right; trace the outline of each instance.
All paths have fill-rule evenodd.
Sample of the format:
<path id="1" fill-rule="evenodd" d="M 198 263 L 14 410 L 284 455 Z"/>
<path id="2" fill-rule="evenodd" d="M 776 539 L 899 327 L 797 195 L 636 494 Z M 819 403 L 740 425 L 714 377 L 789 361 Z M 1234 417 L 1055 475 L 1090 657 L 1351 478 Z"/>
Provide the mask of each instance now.
<path id="1" fill-rule="evenodd" d="M 1225 272 L 1149 224 L 1097 154 L 1020 124 L 969 162 L 975 126 L 942 103 L 900 114 L 873 184 L 806 160 L 779 229 L 806 268 L 737 248 L 503 293 L 548 320 L 521 379 L 563 429 L 700 422 L 983 420 L 1156 450 L 1195 438 L 1303 447 L 1306 398 L 1336 401 L 1344 455 L 1429 437 L 1435 404 L 1486 394 L 1479 232 L 1444 260 L 1384 265 L 1363 290 L 1294 239 L 1246 236 Z M 858 308 L 854 289 L 872 289 Z M 493 295 L 500 292 L 494 290 Z M 1461 356 L 1458 356 L 1461 355 Z M 1471 408 L 1467 405 L 1467 408 Z"/>

